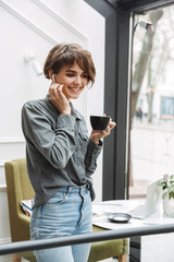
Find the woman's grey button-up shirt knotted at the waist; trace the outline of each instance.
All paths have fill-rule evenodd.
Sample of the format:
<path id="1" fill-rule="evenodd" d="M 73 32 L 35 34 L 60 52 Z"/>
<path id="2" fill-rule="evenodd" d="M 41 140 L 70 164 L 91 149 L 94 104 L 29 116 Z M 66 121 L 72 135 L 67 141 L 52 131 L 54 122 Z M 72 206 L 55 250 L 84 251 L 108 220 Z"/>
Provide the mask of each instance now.
<path id="1" fill-rule="evenodd" d="M 84 117 L 73 107 L 72 115 L 60 115 L 49 100 L 27 102 L 22 109 L 26 140 L 27 171 L 35 190 L 34 206 L 48 201 L 60 187 L 89 184 L 101 146 L 88 139 Z"/>

